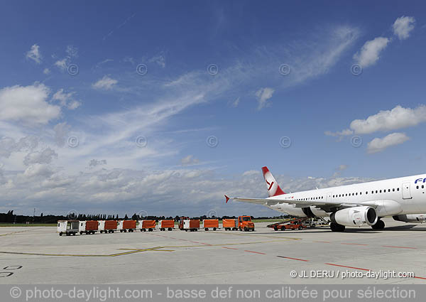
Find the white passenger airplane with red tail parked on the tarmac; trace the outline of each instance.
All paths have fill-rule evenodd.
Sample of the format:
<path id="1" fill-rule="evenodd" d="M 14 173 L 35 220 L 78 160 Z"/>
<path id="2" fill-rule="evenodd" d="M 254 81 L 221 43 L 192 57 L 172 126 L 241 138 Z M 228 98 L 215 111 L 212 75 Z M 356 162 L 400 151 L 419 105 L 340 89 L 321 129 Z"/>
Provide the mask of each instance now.
<path id="1" fill-rule="evenodd" d="M 426 222 L 426 174 L 285 193 L 267 167 L 262 168 L 268 198 L 229 198 L 265 205 L 296 217 L 329 217 L 333 232 L 369 225 L 383 230 L 383 217 L 402 222 Z"/>

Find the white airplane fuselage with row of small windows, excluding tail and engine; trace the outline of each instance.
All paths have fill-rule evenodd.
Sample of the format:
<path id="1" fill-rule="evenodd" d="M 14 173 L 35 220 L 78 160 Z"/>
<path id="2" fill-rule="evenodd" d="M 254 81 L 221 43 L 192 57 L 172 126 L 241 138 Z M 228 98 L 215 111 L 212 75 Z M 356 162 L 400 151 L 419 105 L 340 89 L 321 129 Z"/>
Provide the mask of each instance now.
<path id="1" fill-rule="evenodd" d="M 324 203 L 342 203 L 346 205 L 373 203 L 379 217 L 420 214 L 426 212 L 426 174 L 378 180 L 354 185 L 341 185 L 339 187 L 302 191 L 277 195 L 269 200 L 302 200 Z M 268 205 L 273 210 L 285 212 L 297 217 L 315 215 L 318 217 L 329 216 L 332 211 L 320 210 L 310 206 L 302 208 L 287 203 Z"/>

